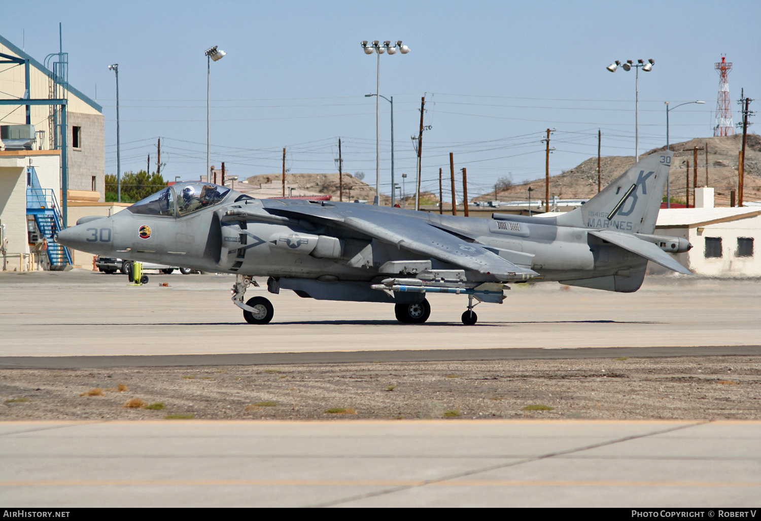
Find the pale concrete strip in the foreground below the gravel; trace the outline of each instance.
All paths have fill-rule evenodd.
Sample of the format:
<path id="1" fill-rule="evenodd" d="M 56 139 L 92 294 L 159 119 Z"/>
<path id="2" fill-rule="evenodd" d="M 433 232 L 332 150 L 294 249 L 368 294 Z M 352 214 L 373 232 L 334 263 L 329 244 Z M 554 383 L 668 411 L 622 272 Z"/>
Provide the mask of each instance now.
<path id="1" fill-rule="evenodd" d="M 758 507 L 761 422 L 0 423 L 13 507 Z M 706 515 L 706 517 L 708 517 Z"/>

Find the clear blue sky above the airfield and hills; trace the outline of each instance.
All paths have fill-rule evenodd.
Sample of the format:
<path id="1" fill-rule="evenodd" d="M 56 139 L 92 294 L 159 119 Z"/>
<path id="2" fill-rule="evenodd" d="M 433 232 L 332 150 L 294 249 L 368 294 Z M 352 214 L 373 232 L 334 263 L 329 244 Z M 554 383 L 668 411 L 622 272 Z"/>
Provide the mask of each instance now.
<path id="1" fill-rule="evenodd" d="M 103 105 L 106 171 L 116 172 L 119 63 L 122 170 L 154 161 L 165 177 L 205 171 L 206 59 L 212 62 L 212 165 L 241 178 L 280 171 L 345 171 L 374 184 L 375 56 L 361 40 L 403 40 L 380 57 L 380 92 L 394 97 L 396 174 L 411 181 L 419 105 L 426 96 L 423 185 L 438 168 L 468 168 L 470 194 L 498 178 L 543 177 L 546 128 L 556 128 L 552 174 L 597 154 L 634 154 L 635 73 L 616 59 L 655 60 L 641 72 L 640 152 L 665 144 L 664 101 L 704 100 L 671 113 L 672 142 L 712 135 L 726 53 L 732 108 L 740 88 L 761 98 L 759 2 L 18 2 L 0 34 L 42 60 L 69 53 L 72 85 Z M 24 42 L 22 42 L 24 40 Z M 97 85 L 97 96 L 96 96 Z M 756 110 L 761 110 L 761 101 Z M 754 128 L 755 129 L 755 128 Z M 381 176 L 390 191 L 389 104 L 381 100 Z M 400 179 L 397 179 L 400 181 Z M 407 192 L 411 190 L 407 184 Z M 446 185 L 446 184 L 445 184 Z"/>

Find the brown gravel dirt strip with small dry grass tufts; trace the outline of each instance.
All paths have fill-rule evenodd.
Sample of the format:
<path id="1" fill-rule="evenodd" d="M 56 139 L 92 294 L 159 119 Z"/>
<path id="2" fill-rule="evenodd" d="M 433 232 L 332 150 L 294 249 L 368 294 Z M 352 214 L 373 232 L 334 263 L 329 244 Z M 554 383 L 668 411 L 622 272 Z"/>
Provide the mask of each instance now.
<path id="1" fill-rule="evenodd" d="M 761 356 L 0 371 L 0 420 L 167 416 L 761 419 Z"/>

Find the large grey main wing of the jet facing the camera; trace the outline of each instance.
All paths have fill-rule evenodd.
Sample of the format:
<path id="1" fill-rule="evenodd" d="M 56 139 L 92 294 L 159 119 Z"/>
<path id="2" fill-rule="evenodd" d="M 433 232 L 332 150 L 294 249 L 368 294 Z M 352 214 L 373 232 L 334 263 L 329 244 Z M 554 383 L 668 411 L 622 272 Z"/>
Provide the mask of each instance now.
<path id="1" fill-rule="evenodd" d="M 416 217 L 368 211 L 349 213 L 329 206 L 283 206 L 271 209 L 301 219 L 313 217 L 318 222 L 327 220 L 333 225 L 360 232 L 396 248 L 434 257 L 466 270 L 490 274 L 501 281 L 527 280 L 539 275 L 534 270 L 506 261 L 482 245 L 464 241 Z M 382 224 L 372 222 L 371 219 L 382 220 Z"/>

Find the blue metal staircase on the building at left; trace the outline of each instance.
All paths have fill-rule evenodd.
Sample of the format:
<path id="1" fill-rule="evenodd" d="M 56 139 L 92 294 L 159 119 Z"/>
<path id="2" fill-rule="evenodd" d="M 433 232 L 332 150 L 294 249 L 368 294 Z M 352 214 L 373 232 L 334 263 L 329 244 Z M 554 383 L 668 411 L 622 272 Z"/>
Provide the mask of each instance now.
<path id="1" fill-rule="evenodd" d="M 40 187 L 34 167 L 27 167 L 27 216 L 34 216 L 37 229 L 47 243 L 50 269 L 62 270 L 66 264 L 72 264 L 72 252 L 53 240 L 56 233 L 62 230 L 61 209 L 56 200 L 56 192 Z"/>

